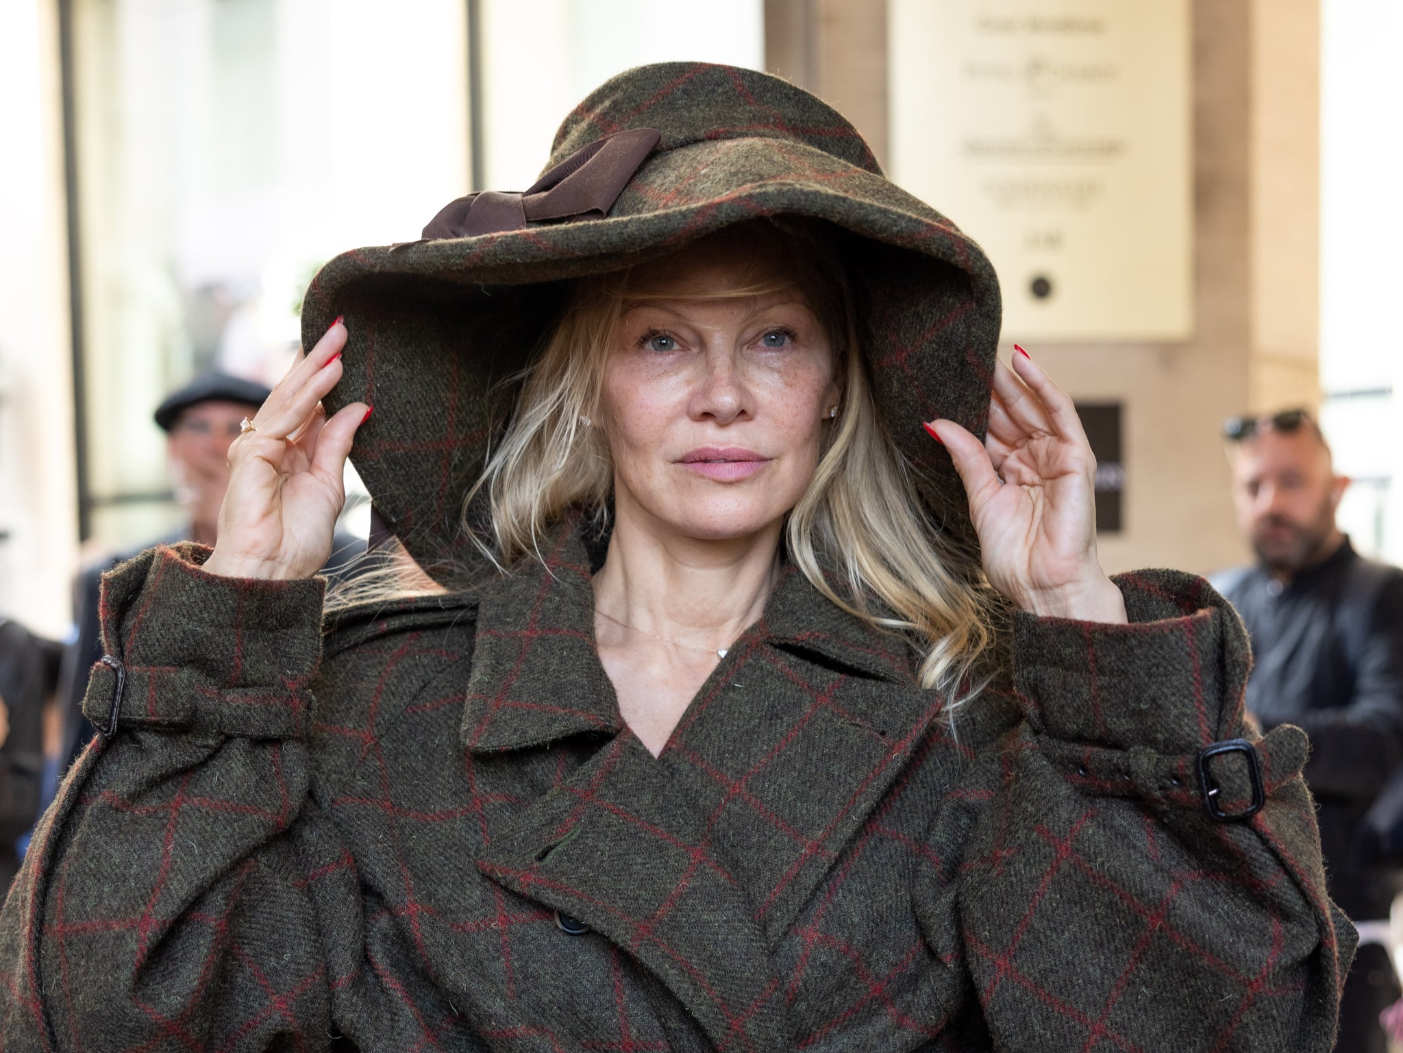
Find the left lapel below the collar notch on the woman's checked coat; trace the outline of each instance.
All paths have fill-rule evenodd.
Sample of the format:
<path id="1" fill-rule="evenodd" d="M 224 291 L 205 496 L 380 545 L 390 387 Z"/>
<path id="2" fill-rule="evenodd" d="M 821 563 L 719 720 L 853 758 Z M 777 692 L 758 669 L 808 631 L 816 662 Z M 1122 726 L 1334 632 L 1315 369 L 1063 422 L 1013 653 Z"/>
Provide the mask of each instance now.
<path id="1" fill-rule="evenodd" d="M 497 831 L 477 866 L 647 966 L 717 1049 L 788 1047 L 753 904 L 704 816 L 631 733 Z"/>

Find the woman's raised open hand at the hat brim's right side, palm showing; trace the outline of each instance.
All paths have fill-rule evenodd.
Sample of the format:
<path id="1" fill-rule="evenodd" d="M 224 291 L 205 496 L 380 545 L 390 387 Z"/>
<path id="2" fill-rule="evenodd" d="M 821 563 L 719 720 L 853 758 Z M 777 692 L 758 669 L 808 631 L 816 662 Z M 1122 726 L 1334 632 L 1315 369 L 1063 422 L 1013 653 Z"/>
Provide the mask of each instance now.
<path id="1" fill-rule="evenodd" d="M 989 434 L 932 421 L 969 497 L 984 571 L 1041 616 L 1125 622 L 1096 557 L 1096 458 L 1066 392 L 1019 348 L 995 362 Z"/>

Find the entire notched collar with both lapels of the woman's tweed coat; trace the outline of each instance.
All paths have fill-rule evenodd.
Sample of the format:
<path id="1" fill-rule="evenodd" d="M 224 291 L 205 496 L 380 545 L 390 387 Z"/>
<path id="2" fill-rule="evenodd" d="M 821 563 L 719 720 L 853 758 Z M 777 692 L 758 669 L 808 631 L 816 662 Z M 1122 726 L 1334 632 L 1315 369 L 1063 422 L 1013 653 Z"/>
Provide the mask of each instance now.
<path id="1" fill-rule="evenodd" d="M 939 699 L 899 642 L 790 570 L 654 758 L 623 727 L 592 614 L 572 534 L 481 604 L 463 747 L 606 741 L 494 823 L 477 866 L 636 958 L 718 1049 L 787 1049 L 772 949 L 927 740 Z"/>

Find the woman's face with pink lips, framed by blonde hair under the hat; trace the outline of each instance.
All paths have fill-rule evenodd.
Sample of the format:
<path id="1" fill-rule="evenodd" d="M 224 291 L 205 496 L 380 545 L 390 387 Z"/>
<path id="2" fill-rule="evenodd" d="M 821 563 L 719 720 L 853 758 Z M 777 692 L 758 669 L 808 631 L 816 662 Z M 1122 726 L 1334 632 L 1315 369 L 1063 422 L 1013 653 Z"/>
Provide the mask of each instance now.
<path id="1" fill-rule="evenodd" d="M 696 539 L 774 528 L 818 465 L 833 351 L 797 288 L 697 299 L 737 286 L 727 243 L 702 243 L 650 275 L 605 366 L 600 414 L 619 522 Z"/>

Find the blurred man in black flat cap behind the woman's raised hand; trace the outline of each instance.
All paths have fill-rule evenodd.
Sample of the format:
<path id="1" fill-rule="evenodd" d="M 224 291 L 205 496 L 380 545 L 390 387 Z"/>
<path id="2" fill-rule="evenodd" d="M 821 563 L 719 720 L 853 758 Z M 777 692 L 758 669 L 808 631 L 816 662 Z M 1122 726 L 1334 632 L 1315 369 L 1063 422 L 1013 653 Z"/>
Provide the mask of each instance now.
<path id="1" fill-rule="evenodd" d="M 102 574 L 153 545 L 178 541 L 215 543 L 219 505 L 229 487 L 229 445 L 239 438 L 240 421 L 253 417 L 269 389 L 261 383 L 208 372 L 171 392 L 156 407 L 156 424 L 166 432 L 166 453 L 171 484 L 189 522 L 178 531 L 154 538 L 145 545 L 119 552 L 84 570 L 74 583 L 74 623 L 77 637 L 65 651 L 59 674 L 59 701 L 63 705 L 63 747 L 59 772 L 77 758 L 93 737 L 93 724 L 83 716 L 83 694 L 88 671 L 102 657 L 98 630 L 98 595 Z M 330 577 L 340 577 L 351 560 L 365 549 L 363 542 L 338 531 L 331 557 L 323 567 Z"/>

